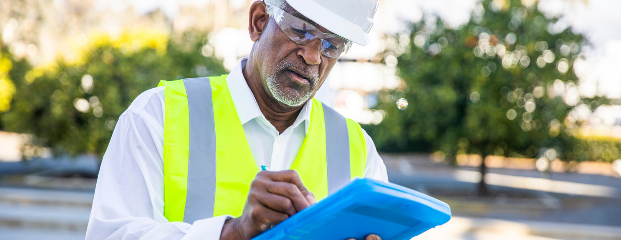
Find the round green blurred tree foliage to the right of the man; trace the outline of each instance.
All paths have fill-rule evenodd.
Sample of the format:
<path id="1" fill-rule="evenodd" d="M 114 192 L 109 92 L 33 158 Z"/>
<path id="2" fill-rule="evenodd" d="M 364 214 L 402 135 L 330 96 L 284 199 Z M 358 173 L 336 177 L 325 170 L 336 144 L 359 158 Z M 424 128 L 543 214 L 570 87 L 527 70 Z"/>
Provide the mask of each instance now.
<path id="1" fill-rule="evenodd" d="M 459 29 L 423 19 L 387 41 L 384 61 L 406 84 L 379 93 L 386 117 L 365 126 L 379 150 L 584 160 L 571 110 L 605 100 L 579 96 L 582 35 L 519 0 L 483 1 Z"/>

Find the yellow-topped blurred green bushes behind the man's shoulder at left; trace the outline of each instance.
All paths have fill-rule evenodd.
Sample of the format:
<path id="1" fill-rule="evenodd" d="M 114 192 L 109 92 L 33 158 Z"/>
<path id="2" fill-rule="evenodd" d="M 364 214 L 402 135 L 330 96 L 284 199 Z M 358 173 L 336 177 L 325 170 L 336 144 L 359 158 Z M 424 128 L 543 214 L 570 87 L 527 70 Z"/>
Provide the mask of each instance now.
<path id="1" fill-rule="evenodd" d="M 1 130 L 36 136 L 36 146 L 58 154 L 103 156 L 119 116 L 160 80 L 225 73 L 206 34 L 170 37 L 127 30 L 116 38 L 94 34 L 86 48 L 52 64 L 23 68 L 12 78 L 11 110 Z M 0 91 L 2 92 L 2 91 Z"/>

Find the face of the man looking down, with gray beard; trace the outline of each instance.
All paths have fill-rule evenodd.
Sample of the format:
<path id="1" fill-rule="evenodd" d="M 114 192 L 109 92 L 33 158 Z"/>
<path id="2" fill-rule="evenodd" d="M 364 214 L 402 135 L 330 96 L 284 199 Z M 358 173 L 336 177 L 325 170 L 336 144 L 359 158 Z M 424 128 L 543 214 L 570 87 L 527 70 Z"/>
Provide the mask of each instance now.
<path id="1" fill-rule="evenodd" d="M 291 7 L 284 11 L 306 20 L 321 32 L 330 33 Z M 307 45 L 291 41 L 270 17 L 265 32 L 255 45 L 261 80 L 266 92 L 289 107 L 297 107 L 310 100 L 337 63 L 337 58 L 328 58 L 321 54 L 320 44 L 319 39 Z"/>

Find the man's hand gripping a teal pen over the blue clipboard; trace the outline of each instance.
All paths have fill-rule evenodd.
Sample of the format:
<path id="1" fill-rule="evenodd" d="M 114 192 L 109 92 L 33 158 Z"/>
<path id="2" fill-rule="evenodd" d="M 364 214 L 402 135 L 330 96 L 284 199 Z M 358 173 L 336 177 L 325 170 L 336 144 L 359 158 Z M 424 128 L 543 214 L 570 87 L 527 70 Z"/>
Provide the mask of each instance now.
<path id="1" fill-rule="evenodd" d="M 242 216 L 224 223 L 220 239 L 252 239 L 312 204 L 315 197 L 296 171 L 261 171 L 250 185 Z"/>

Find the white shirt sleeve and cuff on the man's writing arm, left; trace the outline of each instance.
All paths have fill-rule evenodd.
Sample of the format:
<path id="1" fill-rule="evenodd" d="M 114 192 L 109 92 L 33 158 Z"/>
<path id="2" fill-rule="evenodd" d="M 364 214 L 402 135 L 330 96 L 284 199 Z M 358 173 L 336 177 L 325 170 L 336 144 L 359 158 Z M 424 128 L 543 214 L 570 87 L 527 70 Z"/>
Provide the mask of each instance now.
<path id="1" fill-rule="evenodd" d="M 164 212 L 163 88 L 120 116 L 102 159 L 86 239 L 220 239 L 228 216 L 169 223 Z"/>

